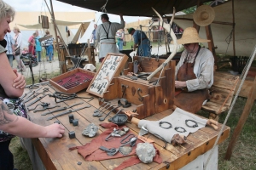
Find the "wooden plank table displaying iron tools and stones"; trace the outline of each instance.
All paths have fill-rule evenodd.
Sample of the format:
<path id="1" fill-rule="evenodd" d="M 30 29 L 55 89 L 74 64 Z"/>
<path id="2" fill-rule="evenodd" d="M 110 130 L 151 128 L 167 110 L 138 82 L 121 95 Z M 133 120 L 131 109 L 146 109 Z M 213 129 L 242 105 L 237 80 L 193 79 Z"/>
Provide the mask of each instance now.
<path id="1" fill-rule="evenodd" d="M 40 84 L 43 88 L 49 88 L 49 92 L 45 94 L 55 93 L 55 90 L 52 86 L 48 84 Z M 41 88 L 38 92 L 43 91 Z M 29 90 L 26 88 L 24 93 L 27 93 Z M 41 96 L 43 94 L 40 94 Z M 87 92 L 81 91 L 78 93 L 80 97 L 90 97 L 91 95 Z M 38 150 L 38 155 L 41 157 L 42 161 L 44 162 L 44 166 L 46 169 L 54 170 L 54 169 L 113 169 L 113 167 L 117 167 L 123 161 L 129 159 L 129 157 L 119 158 L 119 159 L 109 159 L 105 161 L 84 161 L 84 158 L 78 154 L 77 150 L 68 150 L 70 147 L 73 146 L 80 146 L 86 143 L 89 143 L 93 138 L 84 137 L 82 135 L 82 131 L 85 127 L 87 127 L 91 122 L 95 123 L 96 126 L 99 127 L 99 133 L 102 133 L 106 129 L 99 126 L 100 122 L 98 117 L 92 116 L 93 111 L 99 107 L 99 102 L 97 97 L 92 99 L 90 102 L 87 102 L 89 99 L 72 99 L 67 100 L 65 102 L 55 104 L 54 98 L 50 98 L 49 96 L 44 97 L 36 104 L 32 105 L 33 108 L 35 105 L 38 105 L 39 102 L 47 102 L 52 105 L 73 105 L 74 103 L 84 102 L 84 105 L 91 105 L 90 108 L 86 108 L 84 110 L 80 110 L 77 112 L 73 112 L 73 116 L 76 119 L 79 119 L 79 126 L 73 127 L 71 123 L 69 123 L 68 116 L 59 116 L 54 118 L 50 121 L 46 121 L 49 116 L 56 115 L 60 112 L 55 112 L 53 114 L 47 116 L 41 116 L 42 113 L 46 111 L 38 111 L 34 113 L 33 111 L 29 112 L 29 117 L 32 122 L 37 123 L 42 126 L 47 126 L 49 124 L 54 123 L 55 121 L 60 121 L 61 124 L 66 127 L 66 131 L 64 136 L 61 139 L 46 139 L 46 138 L 39 138 L 39 139 L 32 139 L 32 143 L 34 144 L 35 148 Z M 29 102 L 28 102 L 29 103 Z M 27 103 L 27 104 L 28 104 Z M 84 105 L 77 105 L 74 106 L 73 109 L 77 109 Z M 40 108 L 41 106 L 38 106 Z M 55 108 L 56 109 L 56 108 Z M 50 109 L 50 111 L 55 110 Z M 129 109 L 129 108 L 128 108 Z M 146 119 L 151 121 L 160 120 L 161 118 L 172 114 L 172 110 L 163 111 L 158 114 L 154 114 L 153 116 L 149 116 Z M 114 113 L 112 113 L 113 116 Z M 108 117 L 104 122 L 108 122 Z M 132 123 L 126 122 L 126 126 L 131 128 L 133 133 L 138 133 L 139 128 Z M 218 126 L 220 129 L 221 124 Z M 76 139 L 69 139 L 68 132 L 75 131 Z M 185 165 L 187 165 L 190 161 L 194 161 L 198 156 L 206 153 L 208 150 L 212 149 L 212 146 L 217 139 L 219 130 L 215 131 L 212 127 L 203 127 L 195 133 L 190 133 L 187 138 L 187 144 L 183 144 L 182 146 L 173 146 L 172 144 L 167 144 L 166 149 L 163 149 L 164 142 L 160 139 L 155 138 L 153 135 L 150 135 L 149 139 L 154 140 L 155 147 L 160 150 L 160 156 L 163 160 L 163 163 L 157 164 L 155 162 L 144 164 L 139 163 L 132 167 L 128 167 L 127 169 L 132 170 L 141 170 L 141 169 L 167 169 L 166 162 L 170 162 L 170 166 L 168 169 L 179 169 Z M 224 127 L 224 132 L 222 133 L 218 144 L 222 143 L 225 139 L 227 139 L 230 135 L 230 127 Z M 147 135 L 146 135 L 147 136 Z M 78 161 L 81 161 L 82 164 L 78 165 Z"/>

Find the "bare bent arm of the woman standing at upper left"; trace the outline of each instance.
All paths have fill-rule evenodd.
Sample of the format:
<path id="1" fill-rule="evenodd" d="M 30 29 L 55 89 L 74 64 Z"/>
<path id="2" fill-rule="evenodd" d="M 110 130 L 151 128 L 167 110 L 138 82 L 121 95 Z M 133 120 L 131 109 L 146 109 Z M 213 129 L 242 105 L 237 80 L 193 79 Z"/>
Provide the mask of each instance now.
<path id="1" fill-rule="evenodd" d="M 10 67 L 6 54 L 0 54 L 0 84 L 9 98 L 17 98 L 23 94 L 23 88 L 13 87 L 15 78 L 17 75 Z"/>

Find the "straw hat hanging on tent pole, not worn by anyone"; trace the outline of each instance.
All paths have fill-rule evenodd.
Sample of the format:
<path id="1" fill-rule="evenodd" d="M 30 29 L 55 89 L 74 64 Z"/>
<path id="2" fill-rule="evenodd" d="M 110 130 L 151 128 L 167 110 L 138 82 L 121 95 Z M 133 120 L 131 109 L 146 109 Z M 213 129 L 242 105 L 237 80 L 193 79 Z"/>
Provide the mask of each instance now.
<path id="1" fill-rule="evenodd" d="M 200 7 L 196 8 L 195 13 L 193 14 L 195 24 L 198 26 L 208 26 L 212 23 L 214 18 L 214 9 L 209 5 L 201 5 Z"/>

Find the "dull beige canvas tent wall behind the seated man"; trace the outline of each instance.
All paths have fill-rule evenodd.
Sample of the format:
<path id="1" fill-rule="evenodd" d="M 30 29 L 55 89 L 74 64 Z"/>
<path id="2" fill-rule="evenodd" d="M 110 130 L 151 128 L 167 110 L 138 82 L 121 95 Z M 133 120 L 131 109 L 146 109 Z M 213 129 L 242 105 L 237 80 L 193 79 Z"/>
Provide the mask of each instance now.
<path id="1" fill-rule="evenodd" d="M 235 43 L 236 43 L 236 55 L 237 56 L 250 56 L 253 51 L 253 47 L 256 43 L 256 1 L 255 0 L 234 0 L 235 11 Z M 213 8 L 215 11 L 214 21 L 219 22 L 233 22 L 232 18 L 232 2 L 218 5 Z M 177 16 L 176 18 L 189 18 L 193 19 L 193 14 L 186 14 Z M 193 26 L 192 21 L 189 20 L 175 20 L 178 26 L 186 28 Z M 211 24 L 212 37 L 214 46 L 217 46 L 216 53 L 233 55 L 233 39 L 230 39 L 230 32 L 232 26 L 222 24 Z M 206 38 L 206 31 L 204 27 L 200 29 L 200 37 Z M 230 41 L 230 45 L 228 42 Z M 207 44 L 206 44 L 207 46 Z"/>

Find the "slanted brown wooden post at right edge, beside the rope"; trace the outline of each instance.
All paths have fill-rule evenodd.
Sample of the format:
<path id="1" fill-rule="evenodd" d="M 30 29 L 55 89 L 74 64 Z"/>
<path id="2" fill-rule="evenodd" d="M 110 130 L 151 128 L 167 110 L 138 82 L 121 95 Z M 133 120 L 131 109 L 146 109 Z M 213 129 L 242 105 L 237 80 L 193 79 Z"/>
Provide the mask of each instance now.
<path id="1" fill-rule="evenodd" d="M 235 147 L 235 144 L 239 137 L 239 134 L 241 133 L 242 127 L 244 126 L 245 122 L 247 121 L 247 118 L 250 115 L 250 112 L 252 110 L 255 95 L 256 95 L 256 77 L 254 78 L 253 87 L 251 88 L 250 93 L 248 95 L 247 103 L 244 106 L 244 109 L 241 113 L 239 122 L 237 123 L 236 129 L 234 130 L 232 138 L 230 139 L 230 144 L 229 144 L 228 150 L 226 152 L 226 156 L 224 158 L 225 160 L 230 160 L 232 151 Z"/>

